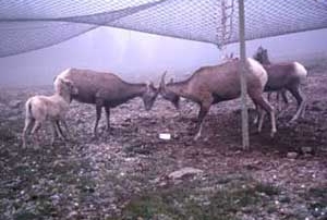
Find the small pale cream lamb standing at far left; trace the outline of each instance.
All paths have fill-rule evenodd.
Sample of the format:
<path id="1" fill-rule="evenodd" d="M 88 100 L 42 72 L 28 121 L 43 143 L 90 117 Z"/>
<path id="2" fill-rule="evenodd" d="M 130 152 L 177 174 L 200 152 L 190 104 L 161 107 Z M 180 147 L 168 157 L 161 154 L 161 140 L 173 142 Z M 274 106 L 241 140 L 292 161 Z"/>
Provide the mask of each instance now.
<path id="1" fill-rule="evenodd" d="M 32 135 L 35 135 L 46 120 L 51 122 L 51 145 L 53 145 L 56 133 L 63 137 L 59 125 L 60 121 L 65 127 L 66 135 L 71 138 L 64 118 L 71 102 L 71 94 L 76 95 L 78 90 L 70 81 L 59 78 L 58 82 L 60 82 L 60 86 L 55 95 L 34 96 L 26 101 L 25 126 L 22 134 L 23 148 L 26 147 L 26 134 L 32 130 Z"/>

